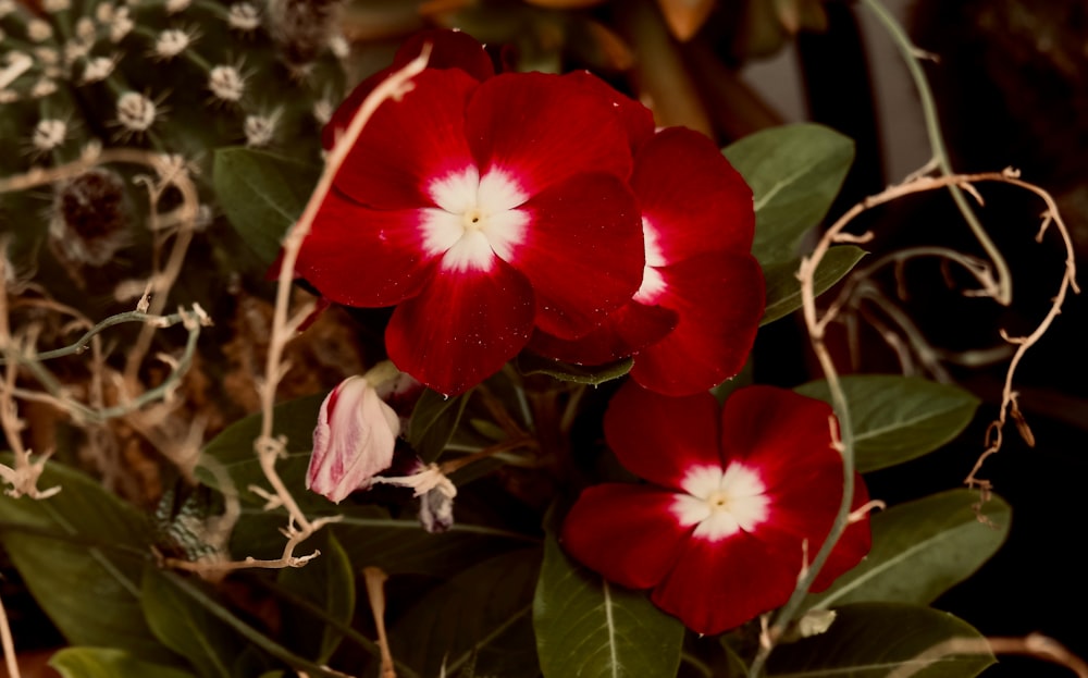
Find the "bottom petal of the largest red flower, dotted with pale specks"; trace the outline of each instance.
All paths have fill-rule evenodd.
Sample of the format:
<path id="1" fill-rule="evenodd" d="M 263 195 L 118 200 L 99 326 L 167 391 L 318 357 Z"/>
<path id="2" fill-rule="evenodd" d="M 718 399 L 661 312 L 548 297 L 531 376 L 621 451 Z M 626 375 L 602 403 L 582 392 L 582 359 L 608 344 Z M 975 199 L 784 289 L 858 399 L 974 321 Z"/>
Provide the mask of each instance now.
<path id="1" fill-rule="evenodd" d="M 490 271 L 436 269 L 419 296 L 397 306 L 385 345 L 398 369 L 456 395 L 524 347 L 535 312 L 528 281 L 499 259 Z"/>

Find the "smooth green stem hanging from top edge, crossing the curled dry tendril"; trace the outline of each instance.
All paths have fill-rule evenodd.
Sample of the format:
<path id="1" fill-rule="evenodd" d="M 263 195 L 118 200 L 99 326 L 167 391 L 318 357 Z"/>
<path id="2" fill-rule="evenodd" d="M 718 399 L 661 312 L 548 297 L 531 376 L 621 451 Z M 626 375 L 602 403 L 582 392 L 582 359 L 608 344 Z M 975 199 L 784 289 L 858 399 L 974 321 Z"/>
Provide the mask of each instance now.
<path id="1" fill-rule="evenodd" d="M 948 150 L 944 148 L 944 139 L 941 136 L 941 125 L 937 116 L 934 94 L 929 88 L 929 81 L 926 78 L 925 71 L 922 69 L 922 62 L 918 59 L 918 48 L 911 41 L 910 36 L 906 35 L 903 27 L 895 21 L 895 17 L 878 0 L 862 0 L 862 3 L 883 24 L 885 29 L 903 56 L 903 61 L 906 63 L 911 78 L 914 81 L 914 86 L 918 90 L 918 98 L 922 101 L 922 112 L 926 121 L 926 134 L 929 137 L 929 145 L 934 151 L 934 160 L 937 162 L 937 167 L 940 169 L 942 175 L 951 176 L 954 172 L 949 161 Z M 970 226 L 979 245 L 986 251 L 986 256 L 993 261 L 993 268 L 998 274 L 998 287 L 994 291 L 993 299 L 1002 306 L 1009 306 L 1013 297 L 1013 283 L 1005 258 L 1001 255 L 997 245 L 993 244 L 993 241 L 990 239 L 990 236 L 986 233 L 986 229 L 978 221 L 978 217 L 975 215 L 975 211 L 967 202 L 963 190 L 959 186 L 949 186 L 949 192 L 952 194 L 952 199 L 955 201 L 956 207 L 960 208 L 960 212 L 963 214 L 967 225 Z"/>

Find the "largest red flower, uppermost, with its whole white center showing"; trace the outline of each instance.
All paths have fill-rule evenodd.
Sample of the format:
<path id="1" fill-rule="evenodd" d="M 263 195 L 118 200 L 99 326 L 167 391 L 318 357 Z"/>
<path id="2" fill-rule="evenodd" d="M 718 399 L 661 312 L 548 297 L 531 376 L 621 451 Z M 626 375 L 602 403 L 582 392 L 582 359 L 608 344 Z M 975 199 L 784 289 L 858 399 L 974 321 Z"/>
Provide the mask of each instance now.
<path id="1" fill-rule="evenodd" d="M 639 288 L 645 255 L 610 97 L 584 76 L 492 75 L 479 44 L 441 35 L 432 67 L 351 149 L 296 272 L 338 304 L 396 306 L 390 358 L 453 394 L 534 329 L 567 340 L 594 330 Z"/>

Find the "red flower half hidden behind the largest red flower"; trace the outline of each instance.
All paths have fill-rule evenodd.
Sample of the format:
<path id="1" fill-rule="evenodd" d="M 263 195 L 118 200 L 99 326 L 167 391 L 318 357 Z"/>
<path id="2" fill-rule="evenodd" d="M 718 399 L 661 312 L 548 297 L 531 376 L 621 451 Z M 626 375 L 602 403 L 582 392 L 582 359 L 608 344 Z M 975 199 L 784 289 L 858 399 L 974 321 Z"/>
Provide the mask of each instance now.
<path id="1" fill-rule="evenodd" d="M 568 341 L 539 331 L 530 348 L 583 365 L 634 355 L 634 381 L 691 395 L 740 371 L 763 317 L 752 190 L 705 136 L 628 128 L 646 250 L 639 292 L 593 333 Z"/>

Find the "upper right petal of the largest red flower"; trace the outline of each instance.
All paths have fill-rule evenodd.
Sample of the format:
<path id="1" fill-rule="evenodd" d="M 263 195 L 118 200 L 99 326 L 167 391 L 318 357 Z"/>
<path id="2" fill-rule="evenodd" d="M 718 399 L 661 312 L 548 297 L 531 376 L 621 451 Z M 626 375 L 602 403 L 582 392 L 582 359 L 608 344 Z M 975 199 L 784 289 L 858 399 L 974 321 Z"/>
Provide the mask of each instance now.
<path id="1" fill-rule="evenodd" d="M 466 132 L 483 175 L 512 174 L 535 195 L 584 172 L 631 173 L 631 151 L 611 103 L 559 75 L 506 73 L 472 96 Z"/>

